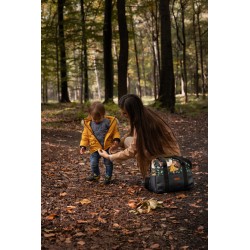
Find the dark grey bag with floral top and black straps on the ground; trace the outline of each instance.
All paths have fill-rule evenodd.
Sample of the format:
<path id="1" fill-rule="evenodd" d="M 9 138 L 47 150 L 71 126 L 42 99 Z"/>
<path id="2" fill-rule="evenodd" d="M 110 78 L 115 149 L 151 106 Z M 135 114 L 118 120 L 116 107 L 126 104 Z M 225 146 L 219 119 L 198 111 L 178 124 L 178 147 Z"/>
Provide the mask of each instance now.
<path id="1" fill-rule="evenodd" d="M 158 157 L 151 161 L 145 188 L 154 193 L 191 189 L 194 186 L 192 163 L 182 156 Z"/>

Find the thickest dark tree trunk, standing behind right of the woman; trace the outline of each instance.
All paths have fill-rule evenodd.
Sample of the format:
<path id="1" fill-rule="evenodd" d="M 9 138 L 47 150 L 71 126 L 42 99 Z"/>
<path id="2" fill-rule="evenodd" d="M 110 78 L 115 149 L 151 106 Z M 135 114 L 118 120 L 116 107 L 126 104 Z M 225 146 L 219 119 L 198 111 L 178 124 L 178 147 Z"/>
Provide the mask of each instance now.
<path id="1" fill-rule="evenodd" d="M 170 112 L 175 111 L 175 83 L 171 44 L 170 0 L 160 0 L 161 74 L 159 101 Z"/>

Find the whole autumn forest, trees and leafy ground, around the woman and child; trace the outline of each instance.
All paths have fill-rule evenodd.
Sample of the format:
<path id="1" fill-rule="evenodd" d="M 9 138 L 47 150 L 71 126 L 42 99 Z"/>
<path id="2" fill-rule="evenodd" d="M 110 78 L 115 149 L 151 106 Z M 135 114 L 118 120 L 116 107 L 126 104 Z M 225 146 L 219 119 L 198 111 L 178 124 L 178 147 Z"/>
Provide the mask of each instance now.
<path id="1" fill-rule="evenodd" d="M 207 1 L 42 0 L 41 40 L 41 249 L 208 249 Z M 173 130 L 191 190 L 150 192 L 136 158 L 114 163 L 109 185 L 100 159 L 88 181 L 89 104 L 104 103 L 122 138 L 127 93 Z"/>

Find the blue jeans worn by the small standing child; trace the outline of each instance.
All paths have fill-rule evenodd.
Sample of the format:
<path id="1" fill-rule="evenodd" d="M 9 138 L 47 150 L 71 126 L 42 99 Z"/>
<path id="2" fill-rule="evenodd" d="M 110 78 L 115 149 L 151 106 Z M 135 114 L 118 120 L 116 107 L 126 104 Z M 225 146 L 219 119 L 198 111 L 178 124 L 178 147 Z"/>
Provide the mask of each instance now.
<path id="1" fill-rule="evenodd" d="M 108 150 L 106 150 L 108 152 Z M 99 155 L 98 151 L 94 152 L 93 154 L 90 155 L 90 167 L 91 171 L 95 175 L 100 175 L 100 169 L 99 169 L 99 160 L 101 156 Z M 106 175 L 107 176 L 112 176 L 113 173 L 113 162 L 110 160 L 103 158 L 103 163 L 106 167 Z"/>

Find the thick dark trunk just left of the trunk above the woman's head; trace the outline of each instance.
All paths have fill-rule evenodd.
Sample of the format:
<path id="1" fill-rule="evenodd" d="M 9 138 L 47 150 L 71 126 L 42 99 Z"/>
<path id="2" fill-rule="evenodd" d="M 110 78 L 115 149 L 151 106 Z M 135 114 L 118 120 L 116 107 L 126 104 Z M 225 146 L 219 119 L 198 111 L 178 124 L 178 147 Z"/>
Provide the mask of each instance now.
<path id="1" fill-rule="evenodd" d="M 103 26 L 103 52 L 104 52 L 104 79 L 105 100 L 113 101 L 113 58 L 112 58 L 112 0 L 105 0 L 104 26 Z"/>

